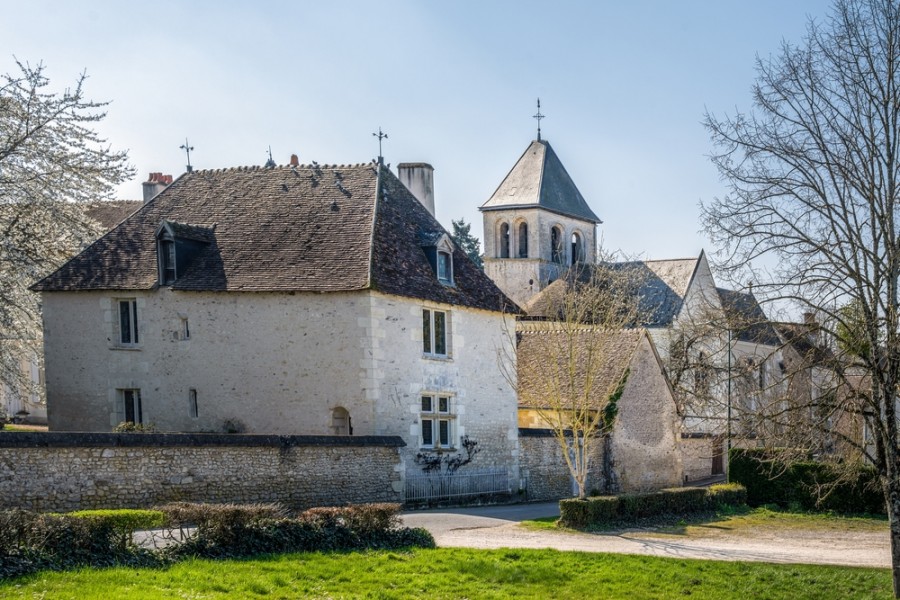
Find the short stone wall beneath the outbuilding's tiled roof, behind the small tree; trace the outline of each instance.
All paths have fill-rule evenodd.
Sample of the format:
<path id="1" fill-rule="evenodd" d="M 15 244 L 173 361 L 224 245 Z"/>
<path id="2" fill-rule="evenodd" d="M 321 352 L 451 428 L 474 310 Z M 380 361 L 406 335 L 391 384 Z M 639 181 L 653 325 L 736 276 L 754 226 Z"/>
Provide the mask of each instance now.
<path id="1" fill-rule="evenodd" d="M 603 490 L 603 443 L 588 474 L 587 491 Z M 549 429 L 519 429 L 519 472 L 526 481 L 528 500 L 571 498 L 577 492 L 559 443 Z"/>

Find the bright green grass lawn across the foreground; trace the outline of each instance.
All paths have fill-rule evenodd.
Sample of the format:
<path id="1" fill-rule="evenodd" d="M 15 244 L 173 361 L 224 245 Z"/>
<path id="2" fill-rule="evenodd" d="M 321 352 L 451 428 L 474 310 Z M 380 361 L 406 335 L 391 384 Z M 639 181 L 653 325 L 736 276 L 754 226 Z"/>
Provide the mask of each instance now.
<path id="1" fill-rule="evenodd" d="M 196 560 L 0 583 L 0 598 L 890 598 L 887 569 L 439 548 Z"/>

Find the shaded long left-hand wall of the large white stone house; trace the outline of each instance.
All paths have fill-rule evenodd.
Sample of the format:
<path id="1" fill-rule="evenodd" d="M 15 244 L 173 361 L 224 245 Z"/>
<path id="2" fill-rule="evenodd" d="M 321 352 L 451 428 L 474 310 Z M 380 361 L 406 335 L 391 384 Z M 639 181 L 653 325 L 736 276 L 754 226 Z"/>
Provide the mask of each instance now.
<path id="1" fill-rule="evenodd" d="M 120 348 L 116 301 L 132 297 L 140 344 Z M 360 385 L 367 312 L 365 294 L 44 294 L 51 429 L 108 431 L 124 420 L 117 390 L 136 388 L 143 421 L 162 431 L 222 431 L 237 420 L 253 432 L 330 434 L 331 411 L 343 406 L 355 433 L 372 433 Z"/>

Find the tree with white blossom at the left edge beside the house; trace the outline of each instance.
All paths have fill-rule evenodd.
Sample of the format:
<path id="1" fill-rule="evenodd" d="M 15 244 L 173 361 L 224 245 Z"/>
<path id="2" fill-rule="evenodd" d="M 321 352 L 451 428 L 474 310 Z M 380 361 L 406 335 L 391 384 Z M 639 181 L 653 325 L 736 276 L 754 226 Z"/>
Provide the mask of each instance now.
<path id="1" fill-rule="evenodd" d="M 21 365 L 39 361 L 42 339 L 28 286 L 96 239 L 77 203 L 108 198 L 133 170 L 93 130 L 106 103 L 85 98 L 86 75 L 54 93 L 43 64 L 16 65 L 0 77 L 0 384 L 31 394 Z"/>

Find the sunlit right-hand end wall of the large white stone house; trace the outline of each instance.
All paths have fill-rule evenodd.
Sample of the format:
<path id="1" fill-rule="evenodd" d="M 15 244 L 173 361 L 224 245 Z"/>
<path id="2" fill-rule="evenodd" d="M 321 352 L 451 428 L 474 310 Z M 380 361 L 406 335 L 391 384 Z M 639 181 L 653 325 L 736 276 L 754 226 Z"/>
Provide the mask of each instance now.
<path id="1" fill-rule="evenodd" d="M 374 349 L 371 361 L 366 360 L 366 367 L 370 368 L 366 386 L 378 423 L 373 433 L 401 436 L 407 444 L 401 450 L 405 469 L 420 473 L 415 456 L 423 451 L 421 396 L 447 395 L 454 417 L 453 439 L 469 436 L 480 449 L 475 460 L 460 473 L 466 469 L 508 466 L 511 480 L 515 481 L 517 401 L 500 373 L 497 358 L 501 345 L 511 343 L 509 332 L 515 331 L 514 319 L 499 313 L 381 294 L 372 294 L 371 300 L 369 326 Z M 423 308 L 448 314 L 446 358 L 423 353 Z M 458 443 L 455 447 L 459 448 Z"/>

